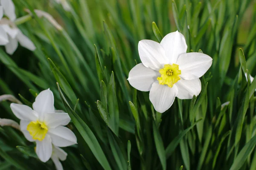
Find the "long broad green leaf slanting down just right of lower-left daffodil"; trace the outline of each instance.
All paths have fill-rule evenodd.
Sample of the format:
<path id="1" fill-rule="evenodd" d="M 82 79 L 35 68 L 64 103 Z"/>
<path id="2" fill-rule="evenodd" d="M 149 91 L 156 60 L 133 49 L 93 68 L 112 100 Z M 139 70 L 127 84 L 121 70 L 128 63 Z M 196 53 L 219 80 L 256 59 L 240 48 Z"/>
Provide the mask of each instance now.
<path id="1" fill-rule="evenodd" d="M 88 144 L 93 155 L 102 165 L 102 167 L 104 167 L 105 170 L 111 170 L 108 160 L 102 150 L 101 145 L 96 139 L 95 135 L 90 130 L 90 128 L 86 125 L 86 123 L 72 110 L 70 105 L 67 103 L 67 100 L 65 99 L 58 83 L 57 83 L 57 86 L 58 86 L 59 94 L 61 96 L 61 101 L 64 107 L 66 108 L 66 111 L 69 114 L 73 124 L 76 126 L 77 130 L 83 137 L 84 141 Z"/>

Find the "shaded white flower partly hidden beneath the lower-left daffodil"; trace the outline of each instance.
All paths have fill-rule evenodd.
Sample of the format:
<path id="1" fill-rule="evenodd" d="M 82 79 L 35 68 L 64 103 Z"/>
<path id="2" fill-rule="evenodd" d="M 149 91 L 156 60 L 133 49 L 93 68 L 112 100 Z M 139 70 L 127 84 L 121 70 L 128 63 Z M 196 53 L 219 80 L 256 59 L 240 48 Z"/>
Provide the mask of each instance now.
<path id="1" fill-rule="evenodd" d="M 61 161 L 65 161 L 67 159 L 67 153 L 63 149 L 52 145 L 51 159 L 55 164 L 56 170 L 63 170 Z"/>

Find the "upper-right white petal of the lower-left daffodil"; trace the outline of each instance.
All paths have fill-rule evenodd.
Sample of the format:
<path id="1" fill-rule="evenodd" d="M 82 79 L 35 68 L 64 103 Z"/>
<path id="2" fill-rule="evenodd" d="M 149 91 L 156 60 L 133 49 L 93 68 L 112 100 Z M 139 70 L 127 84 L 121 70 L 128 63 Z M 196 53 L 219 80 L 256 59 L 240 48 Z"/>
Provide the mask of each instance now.
<path id="1" fill-rule="evenodd" d="M 67 113 L 46 113 L 44 122 L 49 128 L 56 128 L 60 125 L 67 125 L 70 122 L 70 116 Z"/>

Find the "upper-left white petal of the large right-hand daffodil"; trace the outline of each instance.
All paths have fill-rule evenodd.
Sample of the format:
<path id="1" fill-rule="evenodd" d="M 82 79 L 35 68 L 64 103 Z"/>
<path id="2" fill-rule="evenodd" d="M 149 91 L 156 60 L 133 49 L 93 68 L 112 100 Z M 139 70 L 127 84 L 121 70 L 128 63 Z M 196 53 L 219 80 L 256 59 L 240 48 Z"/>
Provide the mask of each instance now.
<path id="1" fill-rule="evenodd" d="M 159 71 L 165 64 L 168 64 L 168 59 L 165 56 L 163 47 L 152 40 L 141 40 L 138 45 L 140 60 L 145 67 Z"/>

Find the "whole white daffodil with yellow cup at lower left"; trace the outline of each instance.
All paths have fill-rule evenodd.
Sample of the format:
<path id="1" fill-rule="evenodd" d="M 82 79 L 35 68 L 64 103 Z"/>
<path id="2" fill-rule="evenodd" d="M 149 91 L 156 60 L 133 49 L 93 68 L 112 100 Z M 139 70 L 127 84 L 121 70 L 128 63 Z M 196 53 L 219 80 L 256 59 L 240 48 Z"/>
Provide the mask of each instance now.
<path id="1" fill-rule="evenodd" d="M 76 144 L 75 134 L 67 127 L 70 116 L 67 113 L 55 113 L 52 91 L 44 90 L 38 94 L 29 106 L 11 104 L 12 112 L 20 119 L 20 130 L 27 140 L 36 142 L 38 158 L 46 162 L 52 156 L 52 144 L 67 147 Z"/>

